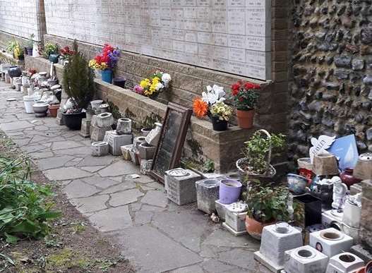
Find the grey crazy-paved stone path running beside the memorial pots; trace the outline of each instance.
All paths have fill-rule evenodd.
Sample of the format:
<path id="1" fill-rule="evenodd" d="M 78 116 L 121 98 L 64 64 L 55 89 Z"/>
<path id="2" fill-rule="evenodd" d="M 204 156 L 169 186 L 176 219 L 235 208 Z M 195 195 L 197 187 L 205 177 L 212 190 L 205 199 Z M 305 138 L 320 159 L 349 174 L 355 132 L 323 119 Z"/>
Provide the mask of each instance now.
<path id="1" fill-rule="evenodd" d="M 6 102 L 14 97 L 16 102 Z M 0 82 L 0 128 L 71 203 L 120 245 L 139 272 L 268 272 L 253 260 L 257 241 L 234 237 L 196 205 L 179 207 L 163 186 L 121 157 L 92 157 L 90 140 L 55 119 L 25 114 L 22 95 Z"/>

